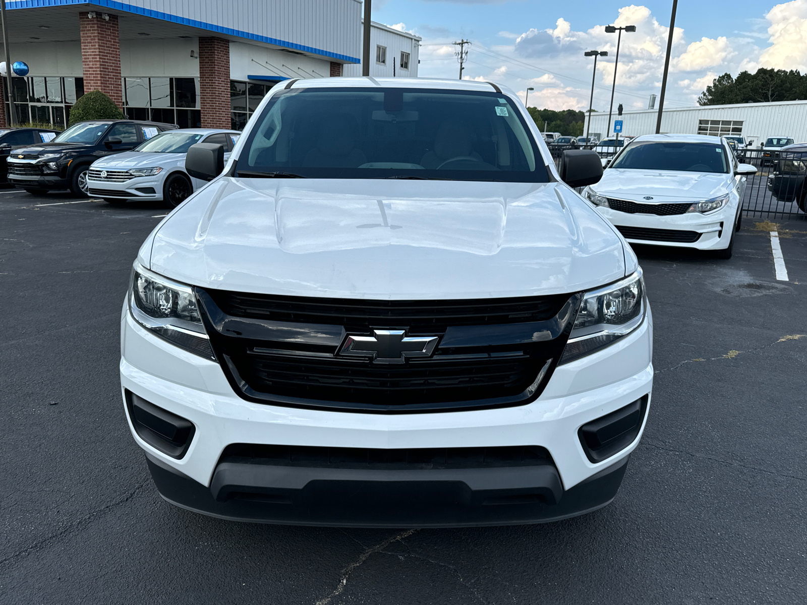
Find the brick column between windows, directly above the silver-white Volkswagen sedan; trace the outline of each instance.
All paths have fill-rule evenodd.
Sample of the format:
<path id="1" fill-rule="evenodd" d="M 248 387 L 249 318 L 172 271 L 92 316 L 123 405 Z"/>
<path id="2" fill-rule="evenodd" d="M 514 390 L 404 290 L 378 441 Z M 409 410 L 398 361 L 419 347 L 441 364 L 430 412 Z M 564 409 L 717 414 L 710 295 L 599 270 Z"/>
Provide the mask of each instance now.
<path id="1" fill-rule="evenodd" d="M 230 41 L 199 38 L 202 127 L 230 127 Z"/>

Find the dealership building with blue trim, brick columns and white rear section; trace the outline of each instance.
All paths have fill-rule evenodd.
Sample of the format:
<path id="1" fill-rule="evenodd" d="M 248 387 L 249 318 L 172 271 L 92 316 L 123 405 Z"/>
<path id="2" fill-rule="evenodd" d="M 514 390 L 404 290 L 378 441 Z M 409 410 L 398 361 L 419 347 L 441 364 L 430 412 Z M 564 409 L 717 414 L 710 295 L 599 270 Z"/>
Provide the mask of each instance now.
<path id="1" fill-rule="evenodd" d="M 102 90 L 132 119 L 240 130 L 278 81 L 361 74 L 358 0 L 12 0 L 6 19 L 11 63 L 29 68 L 12 82 L 18 123 L 63 127 Z M 416 76 L 420 39 L 373 26 L 373 73 Z M 2 108 L 5 126 L 7 92 Z"/>

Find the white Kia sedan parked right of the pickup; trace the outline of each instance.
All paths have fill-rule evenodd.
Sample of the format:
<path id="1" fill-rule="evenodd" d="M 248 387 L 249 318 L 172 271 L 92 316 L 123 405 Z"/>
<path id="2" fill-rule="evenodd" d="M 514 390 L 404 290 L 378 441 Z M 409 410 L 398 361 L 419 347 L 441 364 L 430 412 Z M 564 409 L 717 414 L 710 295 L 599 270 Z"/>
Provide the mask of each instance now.
<path id="1" fill-rule="evenodd" d="M 754 173 L 717 136 L 638 136 L 583 197 L 629 242 L 730 258 L 746 175 Z"/>

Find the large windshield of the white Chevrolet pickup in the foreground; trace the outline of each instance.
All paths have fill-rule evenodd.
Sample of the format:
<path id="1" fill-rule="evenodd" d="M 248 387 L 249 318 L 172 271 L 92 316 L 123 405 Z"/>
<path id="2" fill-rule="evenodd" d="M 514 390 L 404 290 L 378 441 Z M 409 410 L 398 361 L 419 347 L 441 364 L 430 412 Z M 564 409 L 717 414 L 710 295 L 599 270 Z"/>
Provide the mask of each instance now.
<path id="1" fill-rule="evenodd" d="M 291 89 L 253 119 L 239 177 L 549 181 L 521 111 L 493 91 Z"/>

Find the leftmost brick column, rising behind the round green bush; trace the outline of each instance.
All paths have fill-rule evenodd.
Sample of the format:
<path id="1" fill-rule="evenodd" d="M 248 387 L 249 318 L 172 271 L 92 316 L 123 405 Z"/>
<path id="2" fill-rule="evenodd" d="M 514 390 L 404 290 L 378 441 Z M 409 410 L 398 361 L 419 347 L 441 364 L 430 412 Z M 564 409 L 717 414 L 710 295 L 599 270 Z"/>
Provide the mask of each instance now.
<path id="1" fill-rule="evenodd" d="M 123 109 L 118 17 L 102 12 L 79 13 L 78 23 L 82 36 L 84 90 L 100 90 Z"/>

